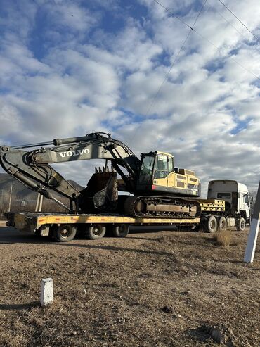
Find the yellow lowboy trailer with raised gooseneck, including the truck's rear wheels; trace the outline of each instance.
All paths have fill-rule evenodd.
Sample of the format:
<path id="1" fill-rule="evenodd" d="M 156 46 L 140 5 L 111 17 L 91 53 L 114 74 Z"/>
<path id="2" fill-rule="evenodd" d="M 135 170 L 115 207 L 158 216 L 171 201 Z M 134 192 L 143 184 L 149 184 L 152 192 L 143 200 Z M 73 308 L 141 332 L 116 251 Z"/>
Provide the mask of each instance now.
<path id="1" fill-rule="evenodd" d="M 152 218 L 129 217 L 110 213 L 61 214 L 61 213 L 6 213 L 6 225 L 21 232 L 53 236 L 56 241 L 71 241 L 77 232 L 84 232 L 88 239 L 100 239 L 106 232 L 115 237 L 126 237 L 131 225 L 176 226 L 178 229 L 200 230 L 202 232 L 223 231 L 235 226 L 235 219 L 225 217 L 225 201 L 216 199 L 199 200 L 200 217 Z"/>

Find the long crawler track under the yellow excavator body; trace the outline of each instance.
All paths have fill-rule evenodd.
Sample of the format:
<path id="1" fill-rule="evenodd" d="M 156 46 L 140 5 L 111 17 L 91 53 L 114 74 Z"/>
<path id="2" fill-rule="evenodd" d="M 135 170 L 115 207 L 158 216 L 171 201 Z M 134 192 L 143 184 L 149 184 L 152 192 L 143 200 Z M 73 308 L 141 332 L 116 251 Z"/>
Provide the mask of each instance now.
<path id="1" fill-rule="evenodd" d="M 175 196 L 129 196 L 124 210 L 132 217 L 195 218 L 200 215 L 200 203 Z"/>

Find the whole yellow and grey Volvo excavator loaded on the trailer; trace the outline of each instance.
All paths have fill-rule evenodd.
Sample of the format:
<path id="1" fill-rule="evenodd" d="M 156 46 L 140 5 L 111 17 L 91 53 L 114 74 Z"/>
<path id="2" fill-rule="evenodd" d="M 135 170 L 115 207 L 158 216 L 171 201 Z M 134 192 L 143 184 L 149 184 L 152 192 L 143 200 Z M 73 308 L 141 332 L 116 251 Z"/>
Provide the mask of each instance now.
<path id="1" fill-rule="evenodd" d="M 105 166 L 96 168 L 81 191 L 50 165 L 90 159 L 103 159 Z M 174 168 L 170 153 L 150 151 L 138 158 L 122 141 L 105 132 L 22 146 L 4 145 L 0 147 L 0 164 L 9 175 L 56 201 L 68 213 L 102 211 L 155 218 L 200 214 L 200 204 L 195 199 L 200 196 L 200 179 L 195 172 Z M 132 195 L 118 194 L 119 191 Z M 60 201 L 59 195 L 70 203 Z"/>

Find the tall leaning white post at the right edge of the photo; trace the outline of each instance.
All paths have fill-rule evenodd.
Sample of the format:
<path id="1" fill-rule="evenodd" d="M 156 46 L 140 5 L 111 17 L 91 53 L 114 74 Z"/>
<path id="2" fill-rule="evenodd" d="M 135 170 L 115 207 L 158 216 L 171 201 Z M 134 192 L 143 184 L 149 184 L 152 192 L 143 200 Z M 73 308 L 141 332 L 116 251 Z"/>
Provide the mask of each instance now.
<path id="1" fill-rule="evenodd" d="M 244 262 L 253 263 L 254 252 L 256 251 L 256 240 L 259 232 L 259 214 L 260 214 L 260 182 L 254 204 L 254 213 L 252 215 L 250 231 L 247 238 L 247 248 L 245 249 Z"/>

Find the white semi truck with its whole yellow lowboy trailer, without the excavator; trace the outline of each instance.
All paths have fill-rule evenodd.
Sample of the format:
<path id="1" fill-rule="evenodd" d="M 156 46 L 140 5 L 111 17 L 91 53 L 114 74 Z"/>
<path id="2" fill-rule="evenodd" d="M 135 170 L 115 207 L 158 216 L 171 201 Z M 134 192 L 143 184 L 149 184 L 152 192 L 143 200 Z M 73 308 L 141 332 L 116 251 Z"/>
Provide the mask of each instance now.
<path id="1" fill-rule="evenodd" d="M 126 237 L 131 225 L 175 226 L 179 230 L 223 232 L 227 227 L 245 230 L 250 223 L 250 203 L 247 186 L 234 180 L 212 180 L 207 199 L 197 199 L 200 217 L 151 218 L 131 217 L 115 213 L 6 213 L 6 225 L 20 232 L 53 236 L 56 241 L 74 239 L 83 232 L 87 239 L 100 239 L 110 232 L 115 237 Z"/>

